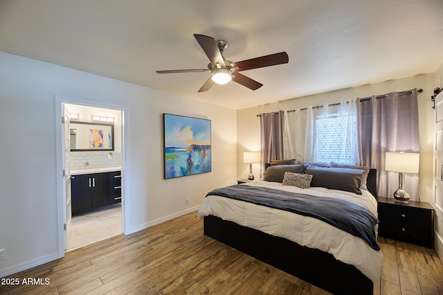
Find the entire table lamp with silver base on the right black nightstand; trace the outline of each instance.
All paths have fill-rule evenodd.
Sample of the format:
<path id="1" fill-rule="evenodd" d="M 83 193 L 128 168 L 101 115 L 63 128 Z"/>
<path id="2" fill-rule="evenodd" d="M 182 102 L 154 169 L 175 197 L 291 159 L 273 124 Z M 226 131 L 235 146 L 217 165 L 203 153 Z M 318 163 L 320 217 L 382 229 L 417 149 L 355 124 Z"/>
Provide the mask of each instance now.
<path id="1" fill-rule="evenodd" d="M 411 152 L 387 152 L 385 170 L 399 172 L 399 188 L 395 191 L 395 199 L 408 202 L 410 195 L 404 188 L 404 174 L 418 173 L 420 154 Z"/>

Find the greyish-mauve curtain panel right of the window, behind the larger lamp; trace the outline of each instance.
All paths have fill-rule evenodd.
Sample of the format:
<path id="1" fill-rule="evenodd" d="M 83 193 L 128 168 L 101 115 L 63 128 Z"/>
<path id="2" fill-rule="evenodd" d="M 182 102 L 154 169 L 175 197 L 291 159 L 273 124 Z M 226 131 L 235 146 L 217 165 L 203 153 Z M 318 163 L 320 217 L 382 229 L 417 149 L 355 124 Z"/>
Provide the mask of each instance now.
<path id="1" fill-rule="evenodd" d="M 377 195 L 392 197 L 399 176 L 384 170 L 386 152 L 419 152 L 417 89 L 360 100 L 359 143 L 361 164 L 377 168 Z M 418 175 L 406 174 L 411 200 L 419 200 L 418 182 Z"/>

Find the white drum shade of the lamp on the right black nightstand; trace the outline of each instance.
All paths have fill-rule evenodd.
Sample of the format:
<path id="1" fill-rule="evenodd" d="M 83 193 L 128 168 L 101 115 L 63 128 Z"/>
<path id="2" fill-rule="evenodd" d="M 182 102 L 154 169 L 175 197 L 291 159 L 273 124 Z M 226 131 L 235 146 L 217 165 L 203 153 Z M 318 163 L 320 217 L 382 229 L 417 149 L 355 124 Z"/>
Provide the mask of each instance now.
<path id="1" fill-rule="evenodd" d="M 411 152 L 387 152 L 385 170 L 418 173 L 420 154 Z"/>

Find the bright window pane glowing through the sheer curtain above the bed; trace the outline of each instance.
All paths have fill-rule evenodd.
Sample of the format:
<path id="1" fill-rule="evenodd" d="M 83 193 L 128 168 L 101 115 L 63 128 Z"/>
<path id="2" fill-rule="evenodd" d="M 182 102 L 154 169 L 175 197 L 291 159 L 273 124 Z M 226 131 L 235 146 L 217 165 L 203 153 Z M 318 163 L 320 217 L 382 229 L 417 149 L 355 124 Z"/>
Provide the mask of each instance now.
<path id="1" fill-rule="evenodd" d="M 316 117 L 316 161 L 358 161 L 356 115 L 347 112 Z"/>

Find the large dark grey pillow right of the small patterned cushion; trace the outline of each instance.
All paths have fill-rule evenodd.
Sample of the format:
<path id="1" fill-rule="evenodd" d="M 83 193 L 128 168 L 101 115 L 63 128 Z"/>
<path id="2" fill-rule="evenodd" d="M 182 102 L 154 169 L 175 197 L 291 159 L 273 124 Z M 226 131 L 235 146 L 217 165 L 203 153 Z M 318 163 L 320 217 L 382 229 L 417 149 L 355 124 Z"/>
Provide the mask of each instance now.
<path id="1" fill-rule="evenodd" d="M 333 190 L 345 190 L 361 195 L 361 175 L 364 170 L 348 168 L 307 168 L 305 174 L 312 175 L 311 187 L 321 186 Z"/>

